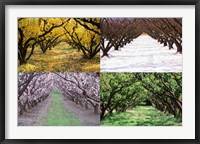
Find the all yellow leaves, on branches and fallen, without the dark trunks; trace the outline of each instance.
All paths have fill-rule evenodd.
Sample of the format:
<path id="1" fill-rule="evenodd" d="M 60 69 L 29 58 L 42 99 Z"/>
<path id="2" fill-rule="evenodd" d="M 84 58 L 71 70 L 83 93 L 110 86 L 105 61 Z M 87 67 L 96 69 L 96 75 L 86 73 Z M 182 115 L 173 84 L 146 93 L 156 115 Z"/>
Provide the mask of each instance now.
<path id="1" fill-rule="evenodd" d="M 100 19 L 93 19 L 95 22 L 100 22 Z M 64 23 L 64 24 L 63 24 Z M 45 31 L 50 30 L 54 26 L 59 26 L 52 29 L 49 33 Z M 88 28 L 94 29 L 100 33 L 100 29 L 92 24 L 86 24 Z M 30 59 L 22 65 L 19 65 L 19 72 L 98 72 L 100 67 L 100 57 L 97 54 L 93 60 L 83 58 L 83 53 L 77 51 L 78 47 L 69 44 L 59 44 L 60 42 L 67 42 L 71 37 L 66 32 L 75 37 L 75 40 L 83 46 L 90 47 L 91 39 L 94 37 L 94 44 L 100 43 L 100 35 L 86 29 L 75 21 L 74 18 L 19 18 L 18 28 L 23 30 L 23 44 L 30 38 L 29 47 L 27 48 L 26 57 L 31 53 L 31 46 L 44 39 L 43 42 L 54 39 L 59 36 L 58 44 L 53 46 L 52 50 L 47 50 L 42 53 L 41 47 L 36 43 Z M 76 35 L 75 35 L 76 34 Z M 76 38 L 77 37 L 77 38 Z M 18 41 L 20 40 L 18 33 Z M 56 43 L 56 41 L 55 41 Z"/>

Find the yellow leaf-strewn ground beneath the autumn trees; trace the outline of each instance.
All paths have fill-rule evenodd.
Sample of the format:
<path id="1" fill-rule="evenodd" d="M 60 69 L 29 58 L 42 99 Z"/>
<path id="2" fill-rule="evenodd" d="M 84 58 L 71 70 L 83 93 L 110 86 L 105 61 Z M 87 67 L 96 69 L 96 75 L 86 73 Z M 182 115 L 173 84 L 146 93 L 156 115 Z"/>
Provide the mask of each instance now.
<path id="1" fill-rule="evenodd" d="M 30 52 L 30 50 L 28 50 Z M 83 59 L 82 54 L 66 43 L 61 43 L 46 53 L 35 48 L 28 63 L 19 65 L 18 72 L 99 72 L 100 55 Z"/>

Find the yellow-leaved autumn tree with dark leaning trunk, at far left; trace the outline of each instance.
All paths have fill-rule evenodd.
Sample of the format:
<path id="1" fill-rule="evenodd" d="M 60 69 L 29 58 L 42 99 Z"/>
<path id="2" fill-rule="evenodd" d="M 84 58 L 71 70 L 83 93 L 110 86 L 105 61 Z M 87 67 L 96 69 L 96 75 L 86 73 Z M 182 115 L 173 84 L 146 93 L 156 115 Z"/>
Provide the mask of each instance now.
<path id="1" fill-rule="evenodd" d="M 63 18 L 19 18 L 18 19 L 18 60 L 25 64 L 34 52 L 35 45 L 45 36 L 66 23 Z M 27 55 L 28 48 L 31 52 Z"/>

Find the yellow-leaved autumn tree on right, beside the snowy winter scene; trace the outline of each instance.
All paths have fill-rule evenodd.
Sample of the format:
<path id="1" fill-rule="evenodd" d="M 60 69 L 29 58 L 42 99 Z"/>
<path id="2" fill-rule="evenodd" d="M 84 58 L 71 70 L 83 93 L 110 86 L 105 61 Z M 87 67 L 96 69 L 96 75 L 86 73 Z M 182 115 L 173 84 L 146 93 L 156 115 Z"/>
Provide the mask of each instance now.
<path id="1" fill-rule="evenodd" d="M 100 51 L 99 19 L 70 19 L 70 25 L 64 27 L 66 42 L 81 50 L 84 57 L 92 59 Z"/>

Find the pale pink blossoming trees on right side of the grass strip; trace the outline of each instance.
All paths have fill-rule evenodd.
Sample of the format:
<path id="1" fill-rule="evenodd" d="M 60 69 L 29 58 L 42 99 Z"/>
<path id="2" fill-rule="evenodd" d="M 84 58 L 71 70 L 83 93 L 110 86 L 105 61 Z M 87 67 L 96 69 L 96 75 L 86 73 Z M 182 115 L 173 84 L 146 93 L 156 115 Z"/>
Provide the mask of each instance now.
<path id="1" fill-rule="evenodd" d="M 99 113 L 99 76 L 94 73 L 55 73 L 61 81 L 58 89 L 69 100 L 88 109 L 89 104 L 94 113 Z"/>

